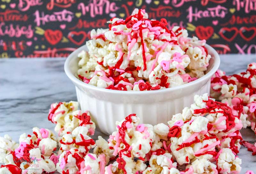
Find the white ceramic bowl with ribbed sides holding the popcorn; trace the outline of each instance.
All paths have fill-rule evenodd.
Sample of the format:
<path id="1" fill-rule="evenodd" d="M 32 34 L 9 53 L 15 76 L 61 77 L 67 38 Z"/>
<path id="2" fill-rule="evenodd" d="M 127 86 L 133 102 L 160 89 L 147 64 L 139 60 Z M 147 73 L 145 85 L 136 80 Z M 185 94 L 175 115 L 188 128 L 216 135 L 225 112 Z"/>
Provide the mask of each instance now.
<path id="1" fill-rule="evenodd" d="M 118 91 L 95 87 L 77 79 L 78 53 L 87 50 L 82 46 L 72 52 L 65 62 L 65 72 L 76 86 L 77 100 L 81 110 L 89 110 L 98 129 L 106 134 L 116 130 L 116 121 L 136 113 L 140 122 L 156 125 L 171 120 L 172 115 L 194 101 L 194 95 L 210 92 L 211 77 L 220 66 L 218 53 L 209 45 L 205 46 L 212 56 L 207 73 L 190 83 L 154 91 Z"/>

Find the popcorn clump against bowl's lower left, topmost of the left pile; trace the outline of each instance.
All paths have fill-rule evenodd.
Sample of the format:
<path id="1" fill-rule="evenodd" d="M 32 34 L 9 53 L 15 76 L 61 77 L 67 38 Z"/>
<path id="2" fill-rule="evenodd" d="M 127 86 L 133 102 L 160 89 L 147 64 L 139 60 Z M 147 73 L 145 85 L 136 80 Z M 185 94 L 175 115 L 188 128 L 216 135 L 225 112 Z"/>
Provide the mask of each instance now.
<path id="1" fill-rule="evenodd" d="M 56 124 L 54 130 L 59 136 L 72 132 L 77 126 L 87 127 L 88 135 L 94 134 L 95 123 L 91 120 L 89 111 L 82 113 L 77 109 L 78 102 L 74 101 L 52 103 L 48 120 Z"/>

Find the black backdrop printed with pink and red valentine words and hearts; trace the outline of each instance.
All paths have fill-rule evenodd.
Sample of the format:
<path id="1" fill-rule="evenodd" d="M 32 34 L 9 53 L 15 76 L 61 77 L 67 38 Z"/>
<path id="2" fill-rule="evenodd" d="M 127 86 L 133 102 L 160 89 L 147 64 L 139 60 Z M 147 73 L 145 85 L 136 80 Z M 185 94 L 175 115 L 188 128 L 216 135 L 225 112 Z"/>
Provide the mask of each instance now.
<path id="1" fill-rule="evenodd" d="M 255 54 L 256 0 L 0 0 L 0 58 L 67 57 L 93 28 L 134 8 L 206 39 L 220 54 Z"/>

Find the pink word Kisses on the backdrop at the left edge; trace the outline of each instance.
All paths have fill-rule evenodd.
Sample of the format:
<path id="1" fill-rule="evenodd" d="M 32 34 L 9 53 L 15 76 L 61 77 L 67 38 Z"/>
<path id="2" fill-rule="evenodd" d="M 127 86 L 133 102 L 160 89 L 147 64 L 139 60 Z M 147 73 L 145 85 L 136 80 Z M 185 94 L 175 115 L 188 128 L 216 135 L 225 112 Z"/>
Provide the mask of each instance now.
<path id="1" fill-rule="evenodd" d="M 33 37 L 33 30 L 31 25 L 27 26 L 13 26 L 10 24 L 9 26 L 5 25 L 4 22 L 0 23 L 0 36 L 8 35 L 9 37 L 20 37 L 21 35 L 26 36 L 27 38 Z"/>

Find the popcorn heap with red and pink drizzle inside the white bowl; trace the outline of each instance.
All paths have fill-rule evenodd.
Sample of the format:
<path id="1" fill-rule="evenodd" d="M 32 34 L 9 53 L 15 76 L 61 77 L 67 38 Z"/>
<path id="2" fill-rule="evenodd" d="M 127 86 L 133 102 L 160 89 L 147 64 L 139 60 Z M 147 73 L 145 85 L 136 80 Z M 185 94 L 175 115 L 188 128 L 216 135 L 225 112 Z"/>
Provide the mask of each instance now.
<path id="1" fill-rule="evenodd" d="M 124 19 L 112 18 L 108 29 L 94 29 L 81 58 L 78 78 L 115 90 L 175 87 L 204 75 L 211 55 L 205 40 L 188 38 L 184 28 L 167 29 L 166 19 L 149 20 L 135 9 Z"/>

